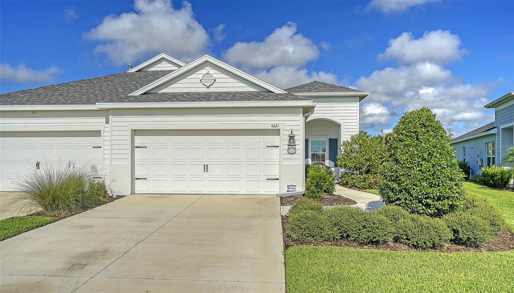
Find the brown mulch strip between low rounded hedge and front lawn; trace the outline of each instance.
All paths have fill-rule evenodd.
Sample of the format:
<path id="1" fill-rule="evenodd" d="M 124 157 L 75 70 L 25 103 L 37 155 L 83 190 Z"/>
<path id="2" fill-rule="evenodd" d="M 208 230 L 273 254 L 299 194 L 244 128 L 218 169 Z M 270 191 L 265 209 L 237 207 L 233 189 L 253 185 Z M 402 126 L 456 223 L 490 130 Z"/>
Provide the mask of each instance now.
<path id="1" fill-rule="evenodd" d="M 340 247 L 352 247 L 352 248 L 364 248 L 364 249 L 384 249 L 384 250 L 394 250 L 394 251 L 428 251 L 428 252 L 485 252 L 485 251 L 505 251 L 514 249 L 514 234 L 509 230 L 503 230 L 500 235 L 496 238 L 488 241 L 481 247 L 467 247 L 456 244 L 448 244 L 445 248 L 442 249 L 415 249 L 409 247 L 405 244 L 396 243 L 396 242 L 388 242 L 381 245 L 363 245 L 355 242 L 349 242 L 346 240 L 336 240 L 336 241 L 323 241 L 320 243 L 308 243 L 301 241 L 293 241 L 287 235 L 285 230 L 285 226 L 289 223 L 289 216 L 282 216 L 282 235 L 284 236 L 284 246 L 287 248 L 289 246 L 294 245 L 312 245 L 312 246 L 340 246 Z"/>

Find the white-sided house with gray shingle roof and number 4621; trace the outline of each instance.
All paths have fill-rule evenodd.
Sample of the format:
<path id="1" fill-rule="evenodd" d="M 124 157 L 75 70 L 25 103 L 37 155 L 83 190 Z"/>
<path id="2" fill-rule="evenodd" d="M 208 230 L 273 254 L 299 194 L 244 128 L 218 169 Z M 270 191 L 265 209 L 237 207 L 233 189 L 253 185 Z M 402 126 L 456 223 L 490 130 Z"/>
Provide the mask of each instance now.
<path id="1" fill-rule="evenodd" d="M 336 172 L 368 92 L 281 89 L 210 55 L 0 95 L 0 190 L 49 165 L 96 165 L 114 194 L 282 194 Z"/>

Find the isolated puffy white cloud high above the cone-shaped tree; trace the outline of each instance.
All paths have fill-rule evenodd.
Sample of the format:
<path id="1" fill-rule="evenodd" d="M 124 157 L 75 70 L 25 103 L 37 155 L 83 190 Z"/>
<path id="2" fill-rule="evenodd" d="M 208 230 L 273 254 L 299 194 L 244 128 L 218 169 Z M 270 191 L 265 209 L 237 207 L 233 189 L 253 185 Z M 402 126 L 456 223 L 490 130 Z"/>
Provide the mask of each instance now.
<path id="1" fill-rule="evenodd" d="M 460 49 L 461 39 L 450 31 L 427 31 L 415 39 L 410 32 L 404 32 L 389 41 L 389 47 L 378 55 L 379 59 L 395 59 L 401 64 L 431 62 L 447 64 L 460 60 L 467 51 Z"/>

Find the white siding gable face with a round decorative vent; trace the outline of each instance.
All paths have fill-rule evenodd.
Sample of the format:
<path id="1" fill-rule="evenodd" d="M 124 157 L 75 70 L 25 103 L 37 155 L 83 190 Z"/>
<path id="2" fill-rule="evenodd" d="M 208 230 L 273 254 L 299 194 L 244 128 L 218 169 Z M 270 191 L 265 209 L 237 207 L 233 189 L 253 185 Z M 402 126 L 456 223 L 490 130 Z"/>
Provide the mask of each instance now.
<path id="1" fill-rule="evenodd" d="M 150 92 L 268 91 L 210 62 L 152 89 Z"/>

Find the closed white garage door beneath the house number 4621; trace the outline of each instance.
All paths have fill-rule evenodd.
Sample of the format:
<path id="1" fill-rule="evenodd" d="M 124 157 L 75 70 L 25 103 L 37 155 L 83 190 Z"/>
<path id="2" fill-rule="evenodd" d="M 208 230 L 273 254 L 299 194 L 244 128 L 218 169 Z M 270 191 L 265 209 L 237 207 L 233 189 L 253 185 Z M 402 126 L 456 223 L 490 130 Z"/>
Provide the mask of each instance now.
<path id="1" fill-rule="evenodd" d="M 140 130 L 136 193 L 275 194 L 278 130 Z"/>

